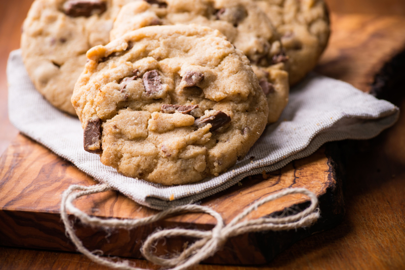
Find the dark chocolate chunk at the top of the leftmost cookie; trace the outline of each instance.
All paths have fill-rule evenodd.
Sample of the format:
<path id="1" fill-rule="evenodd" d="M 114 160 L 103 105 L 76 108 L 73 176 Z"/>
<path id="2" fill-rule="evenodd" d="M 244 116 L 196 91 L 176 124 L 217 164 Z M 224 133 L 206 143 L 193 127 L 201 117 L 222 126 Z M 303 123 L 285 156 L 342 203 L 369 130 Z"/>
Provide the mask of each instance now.
<path id="1" fill-rule="evenodd" d="M 101 0 L 68 0 L 63 5 L 64 13 L 70 17 L 100 15 L 106 9 L 106 3 Z"/>

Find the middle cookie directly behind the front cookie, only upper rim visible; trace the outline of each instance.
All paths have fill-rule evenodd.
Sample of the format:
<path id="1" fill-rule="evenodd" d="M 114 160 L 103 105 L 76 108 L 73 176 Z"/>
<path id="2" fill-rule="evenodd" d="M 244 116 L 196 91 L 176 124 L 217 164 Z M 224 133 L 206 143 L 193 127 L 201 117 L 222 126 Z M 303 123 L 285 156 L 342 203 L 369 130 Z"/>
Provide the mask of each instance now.
<path id="1" fill-rule="evenodd" d="M 128 31 L 154 25 L 177 23 L 208 26 L 220 30 L 245 53 L 261 76 L 269 108 L 268 122 L 275 122 L 287 105 L 288 73 L 283 71 L 288 57 L 280 46 L 275 29 L 266 15 L 251 1 L 244 0 L 161 0 L 134 1 L 122 8 L 110 32 L 113 40 Z M 271 71 L 273 70 L 274 71 Z M 263 73 L 264 74 L 264 73 Z M 264 83 L 266 81 L 266 83 Z"/>

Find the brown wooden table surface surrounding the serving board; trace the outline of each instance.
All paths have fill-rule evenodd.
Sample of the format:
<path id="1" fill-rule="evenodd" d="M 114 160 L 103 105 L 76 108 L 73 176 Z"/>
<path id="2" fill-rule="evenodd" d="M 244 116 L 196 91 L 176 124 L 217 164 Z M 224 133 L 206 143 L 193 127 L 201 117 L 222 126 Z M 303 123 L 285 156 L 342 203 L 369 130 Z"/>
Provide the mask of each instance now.
<path id="1" fill-rule="evenodd" d="M 333 13 L 405 16 L 403 0 L 328 0 Z M 0 0 L 0 154 L 17 136 L 7 112 L 6 63 L 19 48 L 20 27 L 32 0 Z M 387 17 L 387 18 L 388 18 Z M 322 62 L 322 61 L 321 61 Z M 358 86 L 361 88 L 361 85 Z M 13 104 L 11 106 L 18 106 Z M 398 101 L 405 112 L 405 100 Z M 405 113 L 379 137 L 348 142 L 346 216 L 333 230 L 306 238 L 268 265 L 198 265 L 199 269 L 401 269 L 405 267 Z M 158 269 L 144 260 L 137 267 Z M 0 247 L 0 269 L 107 269 L 84 255 Z"/>

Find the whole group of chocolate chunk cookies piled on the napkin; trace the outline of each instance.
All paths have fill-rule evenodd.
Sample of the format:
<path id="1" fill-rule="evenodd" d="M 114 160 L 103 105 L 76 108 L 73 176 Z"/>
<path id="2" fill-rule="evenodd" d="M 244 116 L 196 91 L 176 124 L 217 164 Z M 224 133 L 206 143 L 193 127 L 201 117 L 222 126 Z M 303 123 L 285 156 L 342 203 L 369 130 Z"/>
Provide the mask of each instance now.
<path id="1" fill-rule="evenodd" d="M 86 151 L 177 185 L 244 158 L 328 37 L 321 0 L 36 0 L 21 48 Z"/>

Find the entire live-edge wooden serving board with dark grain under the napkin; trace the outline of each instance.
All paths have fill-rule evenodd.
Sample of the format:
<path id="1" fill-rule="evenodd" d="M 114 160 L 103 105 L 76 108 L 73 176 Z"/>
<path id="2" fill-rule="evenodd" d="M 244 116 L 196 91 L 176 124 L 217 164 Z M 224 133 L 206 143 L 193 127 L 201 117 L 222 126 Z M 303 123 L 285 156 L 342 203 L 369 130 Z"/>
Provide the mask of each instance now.
<path id="1" fill-rule="evenodd" d="M 389 59 L 404 49 L 405 19 L 402 17 L 338 16 L 332 14 L 332 36 L 317 71 L 343 79 L 369 91 L 374 77 Z M 374 83 L 374 87 L 378 85 Z M 201 201 L 229 222 L 242 209 L 264 196 L 288 187 L 305 187 L 320 200 L 321 219 L 310 229 L 251 233 L 231 238 L 206 262 L 261 264 L 294 242 L 332 228 L 344 214 L 339 145 L 328 144 L 310 157 L 291 162 L 268 175 L 246 178 L 230 189 Z M 0 158 L 0 244 L 5 246 L 75 251 L 60 220 L 61 194 L 71 184 L 94 185 L 93 179 L 71 163 L 21 134 Z M 277 215 L 305 207 L 306 199 L 290 196 L 260 207 L 249 218 Z M 142 207 L 116 192 L 80 199 L 76 205 L 101 217 L 136 218 L 155 210 Z M 157 227 L 211 229 L 215 220 L 207 215 L 175 216 L 139 230 L 104 232 L 75 222 L 76 233 L 90 250 L 105 254 L 141 257 L 142 240 Z M 191 239 L 171 239 L 162 250 L 176 251 Z"/>

